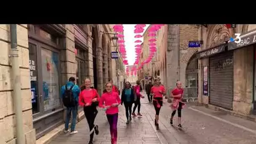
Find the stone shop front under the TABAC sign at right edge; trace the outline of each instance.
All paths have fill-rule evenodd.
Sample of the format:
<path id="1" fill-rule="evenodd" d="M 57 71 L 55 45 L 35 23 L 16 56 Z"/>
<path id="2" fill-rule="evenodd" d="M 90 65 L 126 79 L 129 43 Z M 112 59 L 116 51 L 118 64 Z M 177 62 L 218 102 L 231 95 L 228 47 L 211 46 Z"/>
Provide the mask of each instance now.
<path id="1" fill-rule="evenodd" d="M 231 42 L 234 53 L 233 110 L 245 115 L 256 114 L 256 29 L 240 36 L 240 43 Z"/>

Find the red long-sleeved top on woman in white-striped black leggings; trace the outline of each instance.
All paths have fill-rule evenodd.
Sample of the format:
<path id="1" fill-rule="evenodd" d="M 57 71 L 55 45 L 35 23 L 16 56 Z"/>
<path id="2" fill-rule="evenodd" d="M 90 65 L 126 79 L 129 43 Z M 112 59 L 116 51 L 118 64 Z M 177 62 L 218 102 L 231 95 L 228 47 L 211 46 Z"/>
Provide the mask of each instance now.
<path id="1" fill-rule="evenodd" d="M 99 101 L 99 94 L 96 89 L 90 89 L 90 90 L 83 90 L 79 94 L 79 100 L 78 103 L 80 106 L 84 106 L 86 103 L 89 103 L 91 105 L 92 99 L 97 98 L 97 101 Z"/>

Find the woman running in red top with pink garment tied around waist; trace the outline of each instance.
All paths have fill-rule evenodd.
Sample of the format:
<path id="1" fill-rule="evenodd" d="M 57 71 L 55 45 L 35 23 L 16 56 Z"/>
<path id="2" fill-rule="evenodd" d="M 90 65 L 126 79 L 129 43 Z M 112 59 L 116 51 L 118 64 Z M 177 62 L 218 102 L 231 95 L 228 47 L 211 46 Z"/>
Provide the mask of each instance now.
<path id="1" fill-rule="evenodd" d="M 174 88 L 172 93 L 172 97 L 173 97 L 173 101 L 171 104 L 171 108 L 173 109 L 173 112 L 171 113 L 171 119 L 170 119 L 170 123 L 171 125 L 173 125 L 173 116 L 176 113 L 176 110 L 178 109 L 178 128 L 182 128 L 181 126 L 181 109 L 184 108 L 185 103 L 182 102 L 182 96 L 183 96 L 183 88 L 181 88 L 181 82 L 177 81 L 176 82 L 176 86 L 177 88 Z"/>

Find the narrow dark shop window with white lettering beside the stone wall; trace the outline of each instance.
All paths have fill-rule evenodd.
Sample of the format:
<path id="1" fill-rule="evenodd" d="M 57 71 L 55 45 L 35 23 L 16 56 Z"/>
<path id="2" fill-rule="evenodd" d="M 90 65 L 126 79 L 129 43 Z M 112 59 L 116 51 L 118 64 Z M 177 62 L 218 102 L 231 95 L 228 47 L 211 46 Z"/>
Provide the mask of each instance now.
<path id="1" fill-rule="evenodd" d="M 32 113 L 39 112 L 36 45 L 29 43 L 29 69 L 31 84 Z"/>

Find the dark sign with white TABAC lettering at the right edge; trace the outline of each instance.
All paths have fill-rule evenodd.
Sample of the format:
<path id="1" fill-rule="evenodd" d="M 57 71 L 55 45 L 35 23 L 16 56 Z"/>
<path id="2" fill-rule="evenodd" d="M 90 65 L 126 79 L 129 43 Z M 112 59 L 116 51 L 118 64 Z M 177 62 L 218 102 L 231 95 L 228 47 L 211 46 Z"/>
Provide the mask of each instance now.
<path id="1" fill-rule="evenodd" d="M 252 35 L 245 36 L 245 37 L 241 36 L 240 43 L 235 43 L 235 41 L 229 43 L 228 50 L 234 50 L 234 49 L 241 48 L 241 47 L 244 47 L 247 45 L 251 45 L 253 43 L 256 43 L 256 33 L 254 33 Z"/>

